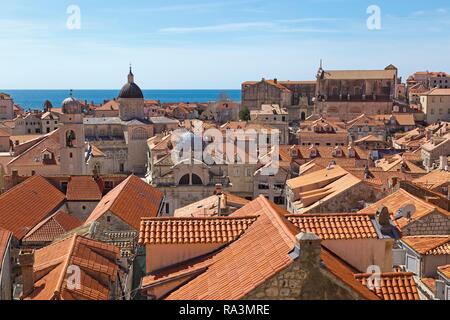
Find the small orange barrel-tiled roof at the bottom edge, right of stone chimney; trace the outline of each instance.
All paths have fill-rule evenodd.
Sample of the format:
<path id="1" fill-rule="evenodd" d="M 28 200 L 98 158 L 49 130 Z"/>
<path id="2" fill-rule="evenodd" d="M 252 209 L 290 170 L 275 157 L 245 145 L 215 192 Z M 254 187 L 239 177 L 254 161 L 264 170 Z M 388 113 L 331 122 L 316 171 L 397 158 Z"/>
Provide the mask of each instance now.
<path id="1" fill-rule="evenodd" d="M 356 274 L 355 278 L 364 286 L 372 274 Z M 377 283 L 374 281 L 374 284 Z M 392 272 L 380 275 L 378 287 L 372 289 L 383 300 L 420 300 L 413 273 Z"/>

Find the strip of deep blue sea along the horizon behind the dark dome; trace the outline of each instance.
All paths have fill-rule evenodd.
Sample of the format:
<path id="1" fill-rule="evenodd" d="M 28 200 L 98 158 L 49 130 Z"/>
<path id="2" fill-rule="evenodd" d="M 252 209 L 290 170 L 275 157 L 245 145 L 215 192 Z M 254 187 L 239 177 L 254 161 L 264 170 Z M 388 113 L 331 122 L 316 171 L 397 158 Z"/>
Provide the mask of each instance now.
<path id="1" fill-rule="evenodd" d="M 45 100 L 57 108 L 69 96 L 69 90 L 2 90 L 12 96 L 14 103 L 25 110 L 42 109 Z M 142 90 L 146 100 L 160 100 L 162 103 L 184 102 L 202 103 L 216 101 L 226 95 L 232 101 L 240 102 L 240 90 Z M 118 90 L 73 90 L 73 96 L 80 101 L 102 104 L 117 97 Z"/>

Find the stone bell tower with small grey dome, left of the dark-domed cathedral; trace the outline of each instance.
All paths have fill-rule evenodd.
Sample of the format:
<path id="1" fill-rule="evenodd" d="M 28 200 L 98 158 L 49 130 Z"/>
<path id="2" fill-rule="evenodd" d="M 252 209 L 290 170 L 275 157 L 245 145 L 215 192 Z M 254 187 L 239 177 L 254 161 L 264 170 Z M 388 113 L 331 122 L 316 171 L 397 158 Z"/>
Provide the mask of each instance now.
<path id="1" fill-rule="evenodd" d="M 73 97 L 72 90 L 62 103 L 60 118 L 61 174 L 83 175 L 86 171 L 83 111 L 81 103 Z"/>

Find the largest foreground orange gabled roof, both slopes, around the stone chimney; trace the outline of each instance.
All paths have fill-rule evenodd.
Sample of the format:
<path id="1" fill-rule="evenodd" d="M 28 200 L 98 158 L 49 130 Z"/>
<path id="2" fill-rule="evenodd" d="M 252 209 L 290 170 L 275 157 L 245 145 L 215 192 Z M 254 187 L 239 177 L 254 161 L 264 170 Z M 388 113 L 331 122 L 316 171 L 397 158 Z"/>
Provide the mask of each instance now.
<path id="1" fill-rule="evenodd" d="M 293 259 L 299 230 L 286 218 L 281 209 L 264 197 L 259 197 L 233 214 L 234 218 L 256 216 L 257 219 L 242 236 L 223 250 L 190 262 L 185 268 L 177 268 L 165 274 L 159 281 L 179 275 L 185 284 L 171 292 L 169 300 L 237 300 L 245 297 L 278 272 L 289 267 Z M 339 277 L 366 299 L 377 299 L 352 277 L 353 273 L 325 249 L 322 259 L 328 271 Z M 155 275 L 144 278 L 152 283 Z M 148 280 L 148 281 L 147 281 Z"/>

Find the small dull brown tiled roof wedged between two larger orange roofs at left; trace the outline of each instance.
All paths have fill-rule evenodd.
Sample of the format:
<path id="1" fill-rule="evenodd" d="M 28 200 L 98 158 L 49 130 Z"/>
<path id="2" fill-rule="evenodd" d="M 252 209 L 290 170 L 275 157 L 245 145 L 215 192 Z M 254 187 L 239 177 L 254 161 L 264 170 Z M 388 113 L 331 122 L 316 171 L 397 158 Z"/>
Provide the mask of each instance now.
<path id="1" fill-rule="evenodd" d="M 52 242 L 82 224 L 83 222 L 74 216 L 58 211 L 28 232 L 22 242 L 25 244 Z"/>

